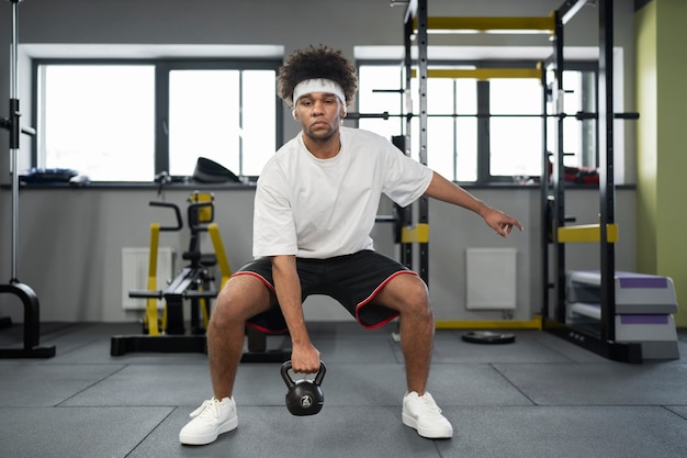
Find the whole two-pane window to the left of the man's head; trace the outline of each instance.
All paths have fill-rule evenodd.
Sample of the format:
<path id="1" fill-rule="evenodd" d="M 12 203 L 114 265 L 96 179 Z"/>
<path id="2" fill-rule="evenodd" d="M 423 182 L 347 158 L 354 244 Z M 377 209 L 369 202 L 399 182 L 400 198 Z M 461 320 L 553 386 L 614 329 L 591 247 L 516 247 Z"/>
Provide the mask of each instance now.
<path id="1" fill-rule="evenodd" d="M 257 176 L 281 143 L 281 62 L 37 62 L 36 164 L 92 181 Z"/>

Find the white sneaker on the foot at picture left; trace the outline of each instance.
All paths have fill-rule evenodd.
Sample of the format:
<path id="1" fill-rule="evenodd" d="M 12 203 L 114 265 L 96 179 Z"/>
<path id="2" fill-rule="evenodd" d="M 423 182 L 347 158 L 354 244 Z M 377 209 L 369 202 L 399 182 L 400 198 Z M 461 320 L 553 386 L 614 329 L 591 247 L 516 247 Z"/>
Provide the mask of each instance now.
<path id="1" fill-rule="evenodd" d="M 238 426 L 234 398 L 224 398 L 222 401 L 215 398 L 207 400 L 189 416 L 193 420 L 181 428 L 179 433 L 181 444 L 210 444 L 222 433 L 236 429 Z"/>

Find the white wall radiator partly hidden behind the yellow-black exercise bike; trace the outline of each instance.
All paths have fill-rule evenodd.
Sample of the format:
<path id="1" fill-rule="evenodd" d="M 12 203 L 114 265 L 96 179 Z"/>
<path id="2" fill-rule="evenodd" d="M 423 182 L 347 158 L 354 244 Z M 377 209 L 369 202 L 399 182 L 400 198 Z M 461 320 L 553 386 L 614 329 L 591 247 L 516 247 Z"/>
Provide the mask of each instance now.
<path id="1" fill-rule="evenodd" d="M 122 309 L 145 310 L 145 299 L 128 297 L 129 290 L 148 289 L 148 248 L 122 248 Z M 167 282 L 174 276 L 174 249 L 160 246 L 157 249 L 157 289 L 167 288 Z"/>

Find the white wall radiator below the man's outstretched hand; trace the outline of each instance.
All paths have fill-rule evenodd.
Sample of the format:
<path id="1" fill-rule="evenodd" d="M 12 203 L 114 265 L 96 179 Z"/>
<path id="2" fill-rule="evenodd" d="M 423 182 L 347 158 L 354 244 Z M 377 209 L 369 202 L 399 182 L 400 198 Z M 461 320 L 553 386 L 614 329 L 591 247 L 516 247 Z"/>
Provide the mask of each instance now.
<path id="1" fill-rule="evenodd" d="M 468 248 L 465 276 L 468 310 L 516 308 L 515 248 Z"/>

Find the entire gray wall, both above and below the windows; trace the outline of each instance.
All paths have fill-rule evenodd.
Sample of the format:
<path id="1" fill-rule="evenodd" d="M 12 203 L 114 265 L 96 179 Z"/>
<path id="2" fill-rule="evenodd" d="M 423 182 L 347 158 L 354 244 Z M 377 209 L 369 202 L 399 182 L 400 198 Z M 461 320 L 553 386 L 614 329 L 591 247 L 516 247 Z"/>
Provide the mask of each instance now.
<path id="1" fill-rule="evenodd" d="M 560 0 L 432 0 L 430 15 L 547 15 Z M 10 36 L 10 3 L 0 4 L 0 36 Z M 403 7 L 391 8 L 388 0 L 335 1 L 226 1 L 226 0 L 26 0 L 20 3 L 22 44 L 269 44 L 282 45 L 285 53 L 309 44 L 328 44 L 353 56 L 362 45 L 402 45 Z M 586 7 L 566 26 L 565 43 L 596 46 L 597 10 Z M 632 2 L 616 1 L 616 45 L 623 49 L 624 94 L 628 110 L 634 105 L 634 48 Z M 430 44 L 451 46 L 509 47 L 548 46 L 545 37 L 511 35 L 457 35 L 430 37 Z M 9 75 L 10 47 L 0 46 L 0 75 Z M 31 119 L 29 59 L 20 62 L 20 98 L 23 122 Z M 620 71 L 620 69 L 618 69 Z M 0 93 L 9 94 L 9 78 L 0 79 Z M 5 114 L 5 113 L 1 113 Z M 284 116 L 286 136 L 297 126 Z M 633 130 L 624 131 L 626 181 L 633 182 Z M 10 169 L 7 132 L 0 132 L 0 177 Z M 31 141 L 22 137 L 20 164 L 27 164 Z M 429 153 L 431 154 L 431 153 Z M 7 178 L 0 179 L 7 183 Z M 168 190 L 166 198 L 183 204 L 192 188 Z M 252 189 L 214 189 L 217 222 L 229 262 L 238 268 L 250 258 Z M 489 313 L 464 310 L 464 253 L 466 247 L 513 246 L 518 249 L 518 309 L 516 319 L 528 320 L 539 310 L 541 289 L 539 191 L 532 188 L 476 189 L 474 193 L 520 219 L 523 234 L 507 241 L 495 236 L 475 215 L 430 204 L 430 289 L 438 320 L 492 320 Z M 581 223 L 597 222 L 596 191 L 567 192 L 568 213 Z M 148 224 L 158 214 L 149 200 L 155 188 L 113 189 L 25 189 L 21 192 L 19 221 L 19 278 L 34 288 L 42 302 L 45 321 L 125 321 L 133 313 L 121 309 L 121 248 L 148 245 Z M 0 190 L 0 281 L 10 278 L 10 201 L 7 187 Z M 621 242 L 617 249 L 618 269 L 634 268 L 634 192 L 618 192 L 618 223 Z M 178 253 L 188 245 L 187 233 L 166 234 L 162 245 Z M 380 250 L 396 254 L 391 228 L 375 230 Z M 575 246 L 570 252 L 571 268 L 598 266 L 596 246 Z M 340 319 L 327 301 L 306 304 L 311 317 Z M 322 308 L 322 310 L 320 310 Z M 11 297 L 0 297 L 0 316 L 21 321 L 21 310 Z"/>

